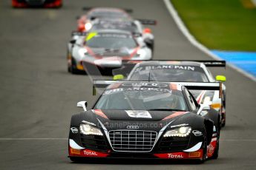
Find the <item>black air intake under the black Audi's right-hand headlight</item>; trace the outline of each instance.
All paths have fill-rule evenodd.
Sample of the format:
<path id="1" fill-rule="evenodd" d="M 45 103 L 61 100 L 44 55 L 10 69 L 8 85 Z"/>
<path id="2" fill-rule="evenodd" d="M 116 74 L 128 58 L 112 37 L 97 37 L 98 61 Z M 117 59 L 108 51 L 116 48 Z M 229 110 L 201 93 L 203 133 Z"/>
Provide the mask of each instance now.
<path id="1" fill-rule="evenodd" d="M 162 137 L 159 144 L 159 150 L 163 152 L 182 151 L 188 147 L 188 137 Z"/>

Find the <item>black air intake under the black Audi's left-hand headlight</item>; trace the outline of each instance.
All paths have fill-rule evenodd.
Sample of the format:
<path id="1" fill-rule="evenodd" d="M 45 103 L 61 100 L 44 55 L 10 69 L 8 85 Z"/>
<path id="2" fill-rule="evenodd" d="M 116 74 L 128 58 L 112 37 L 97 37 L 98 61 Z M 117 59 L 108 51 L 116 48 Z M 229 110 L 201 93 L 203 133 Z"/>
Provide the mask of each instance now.
<path id="1" fill-rule="evenodd" d="M 109 148 L 105 141 L 105 137 L 103 136 L 81 134 L 82 146 L 84 146 L 86 149 L 106 151 Z"/>

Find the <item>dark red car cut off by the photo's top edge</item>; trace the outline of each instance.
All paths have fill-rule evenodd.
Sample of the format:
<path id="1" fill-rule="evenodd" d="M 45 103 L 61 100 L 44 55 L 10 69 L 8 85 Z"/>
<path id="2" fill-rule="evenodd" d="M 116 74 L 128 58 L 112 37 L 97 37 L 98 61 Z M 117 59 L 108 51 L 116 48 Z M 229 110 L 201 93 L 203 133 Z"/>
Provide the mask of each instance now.
<path id="1" fill-rule="evenodd" d="M 62 7 L 62 0 L 12 0 L 13 7 Z"/>

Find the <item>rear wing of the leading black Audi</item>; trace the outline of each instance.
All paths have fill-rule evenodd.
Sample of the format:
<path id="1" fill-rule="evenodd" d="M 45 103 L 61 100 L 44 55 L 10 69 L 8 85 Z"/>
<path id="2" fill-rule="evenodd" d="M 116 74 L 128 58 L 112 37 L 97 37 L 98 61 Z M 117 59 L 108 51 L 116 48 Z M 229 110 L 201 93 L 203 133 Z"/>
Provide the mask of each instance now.
<path id="1" fill-rule="evenodd" d="M 96 88 L 105 89 L 111 84 L 115 83 L 142 83 L 142 84 L 158 84 L 161 82 L 158 81 L 105 81 L 105 80 L 93 80 L 93 95 L 96 95 Z M 220 91 L 219 98 L 222 97 L 222 83 L 221 82 L 162 82 L 162 83 L 175 83 L 180 84 L 181 86 L 186 86 L 188 90 L 214 90 Z"/>

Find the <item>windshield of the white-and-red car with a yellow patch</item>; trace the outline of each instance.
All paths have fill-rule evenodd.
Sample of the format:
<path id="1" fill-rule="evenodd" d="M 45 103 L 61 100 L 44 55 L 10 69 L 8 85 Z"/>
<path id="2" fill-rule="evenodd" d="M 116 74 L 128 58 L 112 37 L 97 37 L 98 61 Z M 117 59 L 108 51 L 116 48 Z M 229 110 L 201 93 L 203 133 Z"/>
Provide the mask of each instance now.
<path id="1" fill-rule="evenodd" d="M 89 34 L 90 35 L 90 34 Z M 89 36 L 88 35 L 88 36 Z M 130 35 L 125 34 L 101 34 L 94 35 L 86 40 L 85 45 L 91 48 L 104 49 L 133 49 L 137 47 L 136 41 Z"/>

